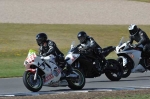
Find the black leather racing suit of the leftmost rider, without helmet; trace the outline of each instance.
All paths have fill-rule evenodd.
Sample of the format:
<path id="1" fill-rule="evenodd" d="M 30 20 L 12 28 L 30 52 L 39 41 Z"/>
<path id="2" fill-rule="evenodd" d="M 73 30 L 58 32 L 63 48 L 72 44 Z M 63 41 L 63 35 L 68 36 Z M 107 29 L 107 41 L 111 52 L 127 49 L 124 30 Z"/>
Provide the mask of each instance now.
<path id="1" fill-rule="evenodd" d="M 50 54 L 54 55 L 56 57 L 55 61 L 56 63 L 64 62 L 64 54 L 58 49 L 55 42 L 51 40 L 46 41 L 46 46 L 40 46 L 39 48 L 39 55 L 41 56 L 48 56 Z"/>

